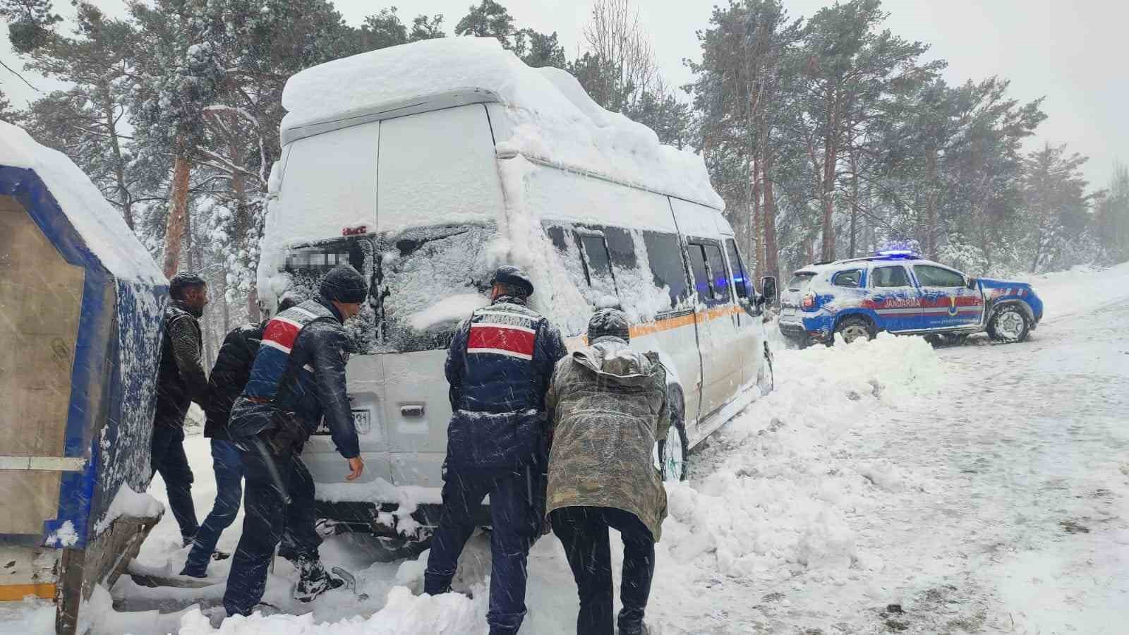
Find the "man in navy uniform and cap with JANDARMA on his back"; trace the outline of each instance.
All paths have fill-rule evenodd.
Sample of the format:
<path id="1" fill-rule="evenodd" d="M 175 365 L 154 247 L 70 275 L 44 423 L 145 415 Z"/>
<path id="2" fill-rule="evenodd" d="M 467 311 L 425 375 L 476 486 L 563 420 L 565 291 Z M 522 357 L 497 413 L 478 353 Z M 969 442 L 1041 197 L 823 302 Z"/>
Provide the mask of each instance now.
<path id="1" fill-rule="evenodd" d="M 425 592 L 450 591 L 474 511 L 490 496 L 491 635 L 517 633 L 525 617 L 526 559 L 541 533 L 546 460 L 545 391 L 567 354 L 560 331 L 526 303 L 533 282 L 498 268 L 492 304 L 463 322 L 447 350 L 450 384 L 443 512 L 431 540 Z"/>

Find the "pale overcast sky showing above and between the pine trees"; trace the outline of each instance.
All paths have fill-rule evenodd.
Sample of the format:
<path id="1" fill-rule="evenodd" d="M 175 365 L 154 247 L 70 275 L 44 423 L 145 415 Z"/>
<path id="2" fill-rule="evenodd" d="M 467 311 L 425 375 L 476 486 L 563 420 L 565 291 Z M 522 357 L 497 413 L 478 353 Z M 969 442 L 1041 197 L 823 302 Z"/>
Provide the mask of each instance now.
<path id="1" fill-rule="evenodd" d="M 589 0 L 499 0 L 518 27 L 558 32 L 569 56 L 576 53 L 587 20 Z M 691 76 L 685 58 L 698 59 L 695 31 L 708 26 L 715 3 L 725 0 L 636 0 L 655 41 L 659 64 L 672 84 Z M 95 0 L 107 12 L 121 15 L 121 0 Z M 409 21 L 417 14 L 444 14 L 450 33 L 472 0 L 338 0 L 350 24 L 359 24 L 380 7 L 395 3 Z M 811 16 L 829 2 L 785 0 L 789 12 Z M 63 15 L 67 2 L 55 2 Z M 992 75 L 1012 80 L 1012 94 L 1029 101 L 1045 96 L 1048 120 L 1038 140 L 1068 143 L 1091 157 L 1086 175 L 1092 188 L 1105 186 L 1113 162 L 1129 163 L 1129 0 L 885 0 L 889 28 L 908 40 L 933 47 L 930 56 L 944 58 L 951 84 Z M 18 68 L 19 61 L 2 31 L 0 59 Z M 30 75 L 41 89 L 52 86 Z M 34 96 L 19 79 L 0 69 L 0 89 L 23 104 Z"/>

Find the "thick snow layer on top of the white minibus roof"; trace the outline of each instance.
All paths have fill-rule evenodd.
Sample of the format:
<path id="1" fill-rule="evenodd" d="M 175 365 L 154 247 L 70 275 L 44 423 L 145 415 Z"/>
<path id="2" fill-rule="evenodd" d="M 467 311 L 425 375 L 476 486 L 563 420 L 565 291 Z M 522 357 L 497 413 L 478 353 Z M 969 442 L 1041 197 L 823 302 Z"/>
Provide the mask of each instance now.
<path id="1" fill-rule="evenodd" d="M 359 116 L 382 105 L 479 89 L 507 106 L 504 149 L 724 209 L 702 158 L 592 101 L 568 72 L 530 68 L 492 37 L 444 37 L 306 69 L 287 81 L 282 130 Z M 496 131 L 497 132 L 497 131 Z"/>

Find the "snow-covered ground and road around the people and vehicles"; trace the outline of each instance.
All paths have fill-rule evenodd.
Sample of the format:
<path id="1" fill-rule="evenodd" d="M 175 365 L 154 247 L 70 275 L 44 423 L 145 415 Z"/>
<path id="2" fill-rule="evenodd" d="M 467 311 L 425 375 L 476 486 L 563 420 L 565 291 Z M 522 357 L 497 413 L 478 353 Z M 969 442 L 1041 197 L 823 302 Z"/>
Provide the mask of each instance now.
<path id="1" fill-rule="evenodd" d="M 1024 343 L 934 349 L 885 336 L 779 350 L 777 390 L 692 456 L 688 482 L 667 484 L 653 633 L 1129 632 L 1129 264 L 1031 281 L 1047 315 Z M 199 435 L 187 446 L 203 515 L 215 494 L 208 446 Z M 164 499 L 159 478 L 150 493 Z M 177 536 L 166 515 L 140 564 L 178 571 Z M 473 599 L 420 597 L 427 554 L 369 566 L 334 539 L 323 557 L 357 571 L 369 599 L 336 591 L 296 606 L 294 571 L 279 560 L 268 601 L 312 612 L 217 630 L 208 616 L 227 560 L 203 590 L 123 577 L 116 610 L 100 597 L 95 633 L 487 632 L 482 536 L 461 573 Z M 530 571 L 523 633 L 574 633 L 576 588 L 553 537 L 534 547 Z M 52 610 L 0 608 L 0 630 L 17 632 L 7 618 L 47 633 Z"/>

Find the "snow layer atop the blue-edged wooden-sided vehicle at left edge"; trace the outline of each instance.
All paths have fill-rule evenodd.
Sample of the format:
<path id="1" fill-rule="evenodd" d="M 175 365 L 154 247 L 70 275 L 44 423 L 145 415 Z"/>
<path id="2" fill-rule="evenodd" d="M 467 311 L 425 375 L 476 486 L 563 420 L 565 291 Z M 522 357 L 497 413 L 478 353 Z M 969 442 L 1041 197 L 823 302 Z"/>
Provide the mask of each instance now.
<path id="1" fill-rule="evenodd" d="M 167 284 L 122 215 L 67 155 L 41 146 L 21 128 L 0 121 L 0 165 L 35 172 L 86 246 L 115 278 Z"/>

